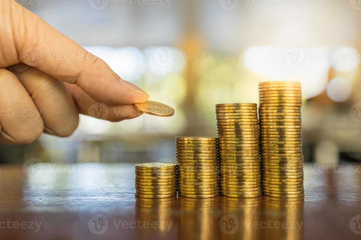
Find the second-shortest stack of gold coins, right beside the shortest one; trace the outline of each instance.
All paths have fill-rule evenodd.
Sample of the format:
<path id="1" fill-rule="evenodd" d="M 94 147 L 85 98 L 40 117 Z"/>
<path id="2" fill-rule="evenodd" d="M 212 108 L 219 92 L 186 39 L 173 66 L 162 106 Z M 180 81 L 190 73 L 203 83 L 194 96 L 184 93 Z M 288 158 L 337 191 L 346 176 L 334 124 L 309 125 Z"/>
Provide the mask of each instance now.
<path id="1" fill-rule="evenodd" d="M 176 137 L 178 196 L 212 198 L 219 195 L 216 137 Z"/>

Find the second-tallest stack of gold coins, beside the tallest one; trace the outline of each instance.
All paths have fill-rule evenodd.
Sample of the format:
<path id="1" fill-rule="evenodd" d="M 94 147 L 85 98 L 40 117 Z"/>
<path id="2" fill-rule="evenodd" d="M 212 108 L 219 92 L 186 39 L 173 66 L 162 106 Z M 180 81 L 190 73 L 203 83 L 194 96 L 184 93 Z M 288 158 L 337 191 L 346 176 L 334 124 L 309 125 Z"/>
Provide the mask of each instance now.
<path id="1" fill-rule="evenodd" d="M 216 105 L 221 195 L 262 195 L 257 104 Z"/>

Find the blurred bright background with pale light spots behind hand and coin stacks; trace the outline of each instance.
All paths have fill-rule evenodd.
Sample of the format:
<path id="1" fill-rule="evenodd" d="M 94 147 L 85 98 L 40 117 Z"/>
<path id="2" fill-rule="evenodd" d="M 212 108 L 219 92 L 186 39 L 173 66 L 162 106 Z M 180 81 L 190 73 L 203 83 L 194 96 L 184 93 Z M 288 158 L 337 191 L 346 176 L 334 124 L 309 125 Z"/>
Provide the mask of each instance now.
<path id="1" fill-rule="evenodd" d="M 175 136 L 216 136 L 215 104 L 258 103 L 277 80 L 302 83 L 305 161 L 361 161 L 359 2 L 19 1 L 175 115 L 81 116 L 71 137 L 0 145 L 0 162 L 175 162 Z"/>

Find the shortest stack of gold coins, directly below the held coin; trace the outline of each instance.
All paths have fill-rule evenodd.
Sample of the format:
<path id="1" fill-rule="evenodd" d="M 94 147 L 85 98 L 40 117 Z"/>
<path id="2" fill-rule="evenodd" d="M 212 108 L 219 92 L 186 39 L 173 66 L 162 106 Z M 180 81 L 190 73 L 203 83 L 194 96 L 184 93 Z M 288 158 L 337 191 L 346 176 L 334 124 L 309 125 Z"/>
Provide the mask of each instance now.
<path id="1" fill-rule="evenodd" d="M 135 164 L 135 196 L 169 198 L 177 195 L 177 165 L 174 163 Z"/>

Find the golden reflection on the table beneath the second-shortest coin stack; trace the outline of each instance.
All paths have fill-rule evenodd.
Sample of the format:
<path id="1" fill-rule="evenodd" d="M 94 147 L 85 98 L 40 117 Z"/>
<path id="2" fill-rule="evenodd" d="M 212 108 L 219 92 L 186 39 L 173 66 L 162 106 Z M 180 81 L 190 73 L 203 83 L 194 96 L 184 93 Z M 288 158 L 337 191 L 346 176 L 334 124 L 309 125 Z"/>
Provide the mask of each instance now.
<path id="1" fill-rule="evenodd" d="M 178 197 L 177 239 L 212 240 L 219 239 L 218 220 L 214 214 L 219 198 Z"/>

